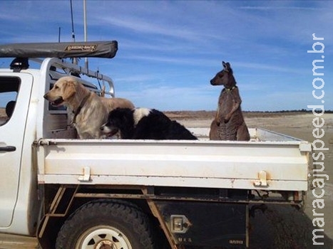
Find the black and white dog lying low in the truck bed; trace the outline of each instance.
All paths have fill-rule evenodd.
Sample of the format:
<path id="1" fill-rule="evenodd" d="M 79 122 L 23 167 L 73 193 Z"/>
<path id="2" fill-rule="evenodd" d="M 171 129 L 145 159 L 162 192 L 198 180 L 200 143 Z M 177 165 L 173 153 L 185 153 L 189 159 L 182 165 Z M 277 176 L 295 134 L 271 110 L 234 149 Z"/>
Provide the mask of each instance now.
<path id="1" fill-rule="evenodd" d="M 163 112 L 147 108 L 117 108 L 108 115 L 101 131 L 122 139 L 197 139 L 182 124 L 170 120 Z"/>

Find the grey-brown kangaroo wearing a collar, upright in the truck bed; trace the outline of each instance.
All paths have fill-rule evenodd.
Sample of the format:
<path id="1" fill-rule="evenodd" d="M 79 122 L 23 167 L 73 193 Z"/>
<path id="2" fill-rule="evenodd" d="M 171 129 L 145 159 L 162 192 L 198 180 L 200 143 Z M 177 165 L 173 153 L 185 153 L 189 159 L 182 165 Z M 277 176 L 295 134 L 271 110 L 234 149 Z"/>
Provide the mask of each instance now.
<path id="1" fill-rule="evenodd" d="M 218 99 L 215 119 L 210 124 L 210 140 L 248 141 L 250 134 L 240 108 L 240 92 L 232 74 L 230 63 L 222 61 L 223 69 L 212 80 L 211 85 L 223 85 Z"/>

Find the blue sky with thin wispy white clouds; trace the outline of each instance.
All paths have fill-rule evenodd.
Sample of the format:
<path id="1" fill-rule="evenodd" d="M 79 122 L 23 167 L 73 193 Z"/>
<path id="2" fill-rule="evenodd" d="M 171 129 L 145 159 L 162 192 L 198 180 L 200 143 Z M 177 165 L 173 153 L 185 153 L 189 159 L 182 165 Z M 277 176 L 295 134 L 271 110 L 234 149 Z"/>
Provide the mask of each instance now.
<path id="1" fill-rule="evenodd" d="M 333 1 L 86 0 L 88 41 L 117 40 L 113 59 L 89 59 L 111 76 L 117 97 L 159 110 L 215 110 L 222 87 L 210 79 L 231 63 L 242 110 L 333 110 Z M 83 41 L 83 0 L 73 0 Z M 0 0 L 0 43 L 71 41 L 70 0 Z M 312 33 L 324 53 L 312 50 Z M 320 46 L 316 46 L 319 50 Z M 312 61 L 324 68 L 312 74 Z M 83 63 L 83 60 L 82 60 Z M 0 68 L 4 68 L 4 62 Z M 314 78 L 322 89 L 314 89 Z M 320 81 L 315 82 L 317 86 Z M 317 96 L 324 97 L 317 100 Z M 324 100 L 324 104 L 322 103 Z"/>

